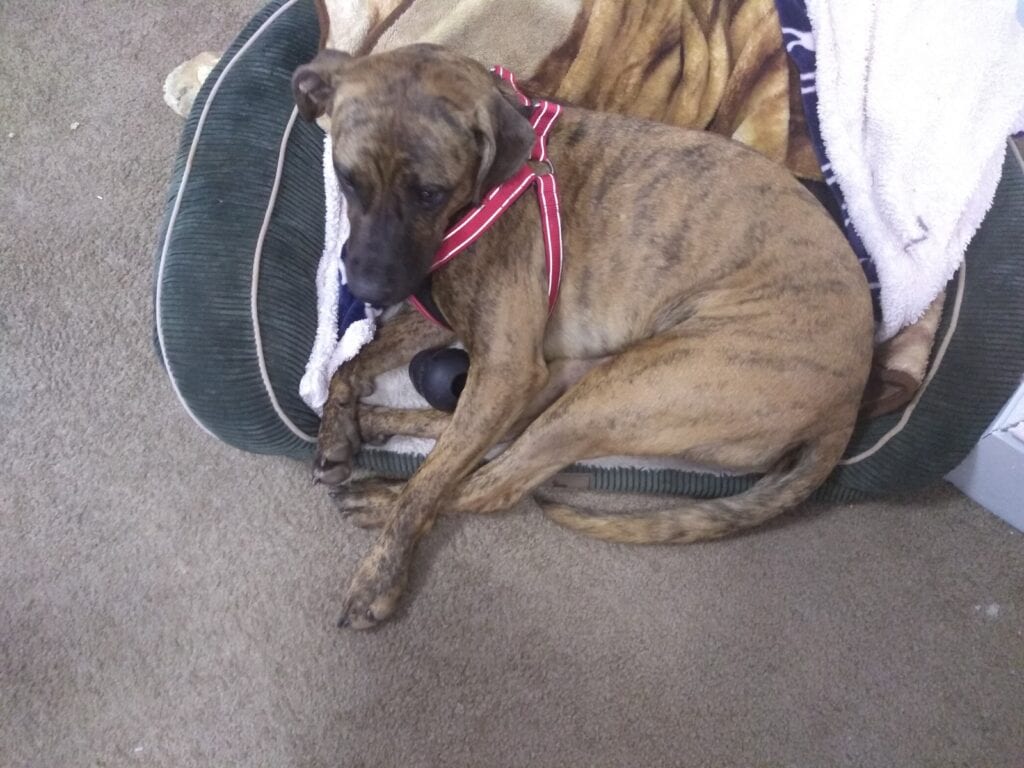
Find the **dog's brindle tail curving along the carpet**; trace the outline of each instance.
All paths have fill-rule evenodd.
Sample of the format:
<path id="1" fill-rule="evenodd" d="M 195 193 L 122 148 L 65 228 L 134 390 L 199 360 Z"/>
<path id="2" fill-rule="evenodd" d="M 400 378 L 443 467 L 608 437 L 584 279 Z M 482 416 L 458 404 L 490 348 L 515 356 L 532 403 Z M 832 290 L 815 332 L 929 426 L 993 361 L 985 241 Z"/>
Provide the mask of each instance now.
<path id="1" fill-rule="evenodd" d="M 831 472 L 850 438 L 833 432 L 798 450 L 795 457 L 752 488 L 723 499 L 690 500 L 678 507 L 616 515 L 540 501 L 552 520 L 567 528 L 625 544 L 688 544 L 754 527 L 807 499 Z"/>

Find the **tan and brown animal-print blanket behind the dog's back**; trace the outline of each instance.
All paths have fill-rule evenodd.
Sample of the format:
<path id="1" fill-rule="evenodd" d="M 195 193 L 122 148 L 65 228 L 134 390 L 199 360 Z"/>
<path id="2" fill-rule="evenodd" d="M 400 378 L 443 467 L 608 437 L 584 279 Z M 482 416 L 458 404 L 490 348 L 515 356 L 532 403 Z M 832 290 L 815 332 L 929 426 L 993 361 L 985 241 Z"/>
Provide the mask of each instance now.
<path id="1" fill-rule="evenodd" d="M 324 43 L 450 45 L 532 73 L 528 91 L 729 136 L 821 173 L 773 0 L 317 0 Z"/>

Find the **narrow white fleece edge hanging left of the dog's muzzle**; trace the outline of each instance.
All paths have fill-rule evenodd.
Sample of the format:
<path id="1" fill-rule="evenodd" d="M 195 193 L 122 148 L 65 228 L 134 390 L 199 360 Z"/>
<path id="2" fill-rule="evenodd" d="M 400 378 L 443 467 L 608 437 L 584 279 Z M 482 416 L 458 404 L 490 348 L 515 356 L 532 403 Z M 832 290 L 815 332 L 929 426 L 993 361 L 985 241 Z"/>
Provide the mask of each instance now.
<path id="1" fill-rule="evenodd" d="M 348 240 L 348 212 L 338 185 L 331 153 L 331 134 L 324 137 L 324 197 L 327 218 L 324 253 L 316 268 L 316 339 L 306 371 L 299 382 L 299 395 L 317 415 L 323 415 L 331 377 L 342 362 L 350 360 L 374 338 L 378 312 L 367 305 L 366 317 L 352 323 L 338 338 L 338 300 L 345 282 L 341 249 Z"/>

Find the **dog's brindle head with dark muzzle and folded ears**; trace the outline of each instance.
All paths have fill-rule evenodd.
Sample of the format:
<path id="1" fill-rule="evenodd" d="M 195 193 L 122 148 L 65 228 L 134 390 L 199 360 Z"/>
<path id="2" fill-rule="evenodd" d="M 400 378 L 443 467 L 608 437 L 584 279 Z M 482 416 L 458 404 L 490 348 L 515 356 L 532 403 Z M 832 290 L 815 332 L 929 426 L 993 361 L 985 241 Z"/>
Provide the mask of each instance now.
<path id="1" fill-rule="evenodd" d="M 349 288 L 372 304 L 413 294 L 456 214 L 519 170 L 534 145 L 490 73 L 435 45 L 362 57 L 325 50 L 296 70 L 292 88 L 303 118 L 330 118 L 351 224 Z"/>

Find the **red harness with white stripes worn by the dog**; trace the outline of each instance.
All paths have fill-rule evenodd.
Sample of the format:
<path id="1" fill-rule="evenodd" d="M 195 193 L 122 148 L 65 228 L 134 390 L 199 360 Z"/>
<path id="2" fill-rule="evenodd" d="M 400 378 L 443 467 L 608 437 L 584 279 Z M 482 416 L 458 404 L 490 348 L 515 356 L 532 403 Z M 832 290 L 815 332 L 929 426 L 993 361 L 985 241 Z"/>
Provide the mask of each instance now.
<path id="1" fill-rule="evenodd" d="M 530 124 L 534 126 L 534 133 L 537 134 L 537 141 L 529 154 L 529 160 L 547 165 L 548 172 L 543 175 L 539 174 L 532 169 L 529 162 L 526 162 L 512 178 L 492 189 L 479 206 L 466 213 L 444 233 L 440 250 L 434 256 L 430 271 L 439 269 L 469 248 L 499 216 L 508 210 L 509 206 L 519 199 L 528 186 L 536 184 L 537 202 L 541 207 L 544 258 L 548 267 L 548 311 L 550 312 L 558 300 L 558 286 L 562 275 L 562 220 L 558 212 L 558 186 L 555 182 L 551 161 L 548 160 L 547 142 L 551 126 L 555 124 L 562 108 L 551 101 L 530 102 L 516 85 L 515 76 L 504 67 L 496 67 L 492 72 L 512 86 L 523 106 L 534 106 Z M 432 305 L 433 302 L 427 294 L 429 294 L 429 284 L 426 294 L 417 294 L 410 297 L 409 300 L 425 317 L 438 325 L 446 326 L 447 324 L 440 316 L 440 312 L 432 311 L 432 309 L 436 309 L 435 306 L 432 309 L 428 308 L 427 305 Z"/>

